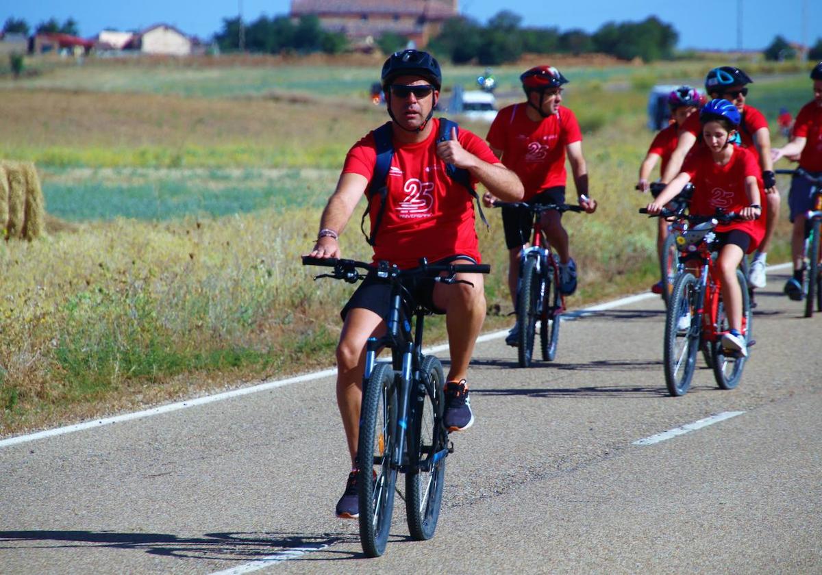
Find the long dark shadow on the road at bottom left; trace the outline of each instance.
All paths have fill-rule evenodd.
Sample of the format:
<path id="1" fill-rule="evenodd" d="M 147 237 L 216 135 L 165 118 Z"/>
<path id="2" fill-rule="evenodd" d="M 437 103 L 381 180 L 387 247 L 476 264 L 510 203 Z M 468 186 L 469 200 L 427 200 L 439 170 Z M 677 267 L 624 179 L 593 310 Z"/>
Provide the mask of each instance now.
<path id="1" fill-rule="evenodd" d="M 32 545 L 32 548 L 106 547 L 141 550 L 181 559 L 248 562 L 278 554 L 286 559 L 300 552 L 321 550 L 337 543 L 358 543 L 359 539 L 348 533 L 205 533 L 201 537 L 179 537 L 166 533 L 116 531 L 0 531 L 0 549 L 21 549 L 21 545 L 3 545 L 9 541 L 54 542 L 52 545 Z M 347 552 L 345 555 L 348 558 L 362 556 Z"/>

